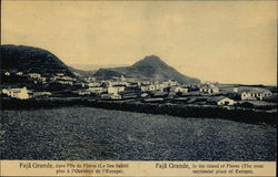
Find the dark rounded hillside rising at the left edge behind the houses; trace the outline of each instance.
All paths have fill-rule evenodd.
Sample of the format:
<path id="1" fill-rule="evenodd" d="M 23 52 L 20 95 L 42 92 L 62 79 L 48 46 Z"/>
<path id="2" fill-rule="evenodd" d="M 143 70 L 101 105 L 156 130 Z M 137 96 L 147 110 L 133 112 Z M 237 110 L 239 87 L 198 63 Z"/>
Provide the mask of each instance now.
<path id="1" fill-rule="evenodd" d="M 36 72 L 43 75 L 63 73 L 68 76 L 75 74 L 54 54 L 47 50 L 24 45 L 0 45 L 0 70 Z"/>

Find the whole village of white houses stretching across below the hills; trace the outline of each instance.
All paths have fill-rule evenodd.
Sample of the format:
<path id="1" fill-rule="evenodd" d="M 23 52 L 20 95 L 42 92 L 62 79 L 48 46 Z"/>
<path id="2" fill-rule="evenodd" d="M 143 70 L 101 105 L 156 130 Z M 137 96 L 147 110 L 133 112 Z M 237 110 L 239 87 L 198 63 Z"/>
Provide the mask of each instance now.
<path id="1" fill-rule="evenodd" d="M 139 81 L 135 77 L 76 79 L 63 73 L 42 75 L 21 71 L 1 72 L 1 97 L 34 100 L 86 97 L 115 102 L 171 103 L 242 107 L 276 107 L 276 88 L 203 82 L 180 84 L 168 80 Z M 13 84 L 12 81 L 17 82 Z M 9 83 L 11 82 L 11 83 Z"/>

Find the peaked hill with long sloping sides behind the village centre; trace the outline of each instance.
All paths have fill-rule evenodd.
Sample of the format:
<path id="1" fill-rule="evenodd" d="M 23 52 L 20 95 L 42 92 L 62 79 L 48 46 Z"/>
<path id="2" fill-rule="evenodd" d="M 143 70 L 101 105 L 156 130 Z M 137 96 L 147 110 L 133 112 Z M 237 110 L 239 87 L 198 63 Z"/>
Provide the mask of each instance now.
<path id="1" fill-rule="evenodd" d="M 183 84 L 200 82 L 198 79 L 192 79 L 179 73 L 156 55 L 146 56 L 131 66 L 99 69 L 93 74 L 93 76 L 99 80 L 107 80 L 120 75 L 151 81 L 176 80 Z"/>

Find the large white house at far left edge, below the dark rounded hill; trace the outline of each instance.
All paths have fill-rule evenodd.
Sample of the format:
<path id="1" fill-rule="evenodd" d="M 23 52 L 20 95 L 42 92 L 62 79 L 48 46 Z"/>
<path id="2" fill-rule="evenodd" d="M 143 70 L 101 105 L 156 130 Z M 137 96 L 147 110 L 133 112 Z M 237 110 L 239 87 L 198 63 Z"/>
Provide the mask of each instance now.
<path id="1" fill-rule="evenodd" d="M 26 100 L 26 98 L 30 98 L 31 91 L 27 90 L 27 87 L 22 87 L 22 88 L 3 88 L 2 93 L 7 94 L 10 97 Z"/>

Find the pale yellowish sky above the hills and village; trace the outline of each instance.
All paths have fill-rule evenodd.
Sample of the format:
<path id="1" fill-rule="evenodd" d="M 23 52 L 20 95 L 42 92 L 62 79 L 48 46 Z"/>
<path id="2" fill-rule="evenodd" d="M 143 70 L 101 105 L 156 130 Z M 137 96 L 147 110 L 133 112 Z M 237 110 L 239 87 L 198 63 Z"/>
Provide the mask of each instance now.
<path id="1" fill-rule="evenodd" d="M 277 83 L 276 1 L 2 1 L 1 44 L 46 49 L 66 64 L 160 56 L 220 83 Z"/>

